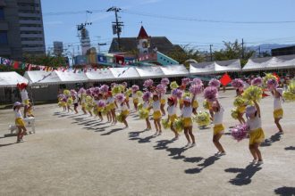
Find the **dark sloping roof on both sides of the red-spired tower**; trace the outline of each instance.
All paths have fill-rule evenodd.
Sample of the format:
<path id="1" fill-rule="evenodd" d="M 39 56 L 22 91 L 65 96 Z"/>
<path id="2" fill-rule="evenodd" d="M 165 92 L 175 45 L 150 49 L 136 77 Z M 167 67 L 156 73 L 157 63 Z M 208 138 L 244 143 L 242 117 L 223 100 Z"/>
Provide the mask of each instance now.
<path id="1" fill-rule="evenodd" d="M 122 37 L 120 38 L 122 51 L 138 51 L 138 39 L 137 37 Z M 157 51 L 161 53 L 169 53 L 173 48 L 179 45 L 173 45 L 167 37 L 150 37 L 150 50 L 156 46 Z M 108 53 L 119 53 L 118 50 L 118 38 L 113 38 L 112 44 Z"/>

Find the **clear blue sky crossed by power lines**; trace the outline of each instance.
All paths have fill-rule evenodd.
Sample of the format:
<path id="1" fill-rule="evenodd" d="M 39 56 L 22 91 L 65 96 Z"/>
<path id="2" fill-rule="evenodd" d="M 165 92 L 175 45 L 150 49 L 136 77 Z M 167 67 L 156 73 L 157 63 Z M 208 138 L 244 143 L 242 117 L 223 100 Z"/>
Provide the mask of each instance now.
<path id="1" fill-rule="evenodd" d="M 63 41 L 72 45 L 77 53 L 79 39 L 76 25 L 86 20 L 93 22 L 89 26 L 92 45 L 98 42 L 108 45 L 101 48 L 106 51 L 111 43 L 113 32 L 111 22 L 114 12 L 86 11 L 106 10 L 115 5 L 122 8 L 119 15 L 124 21 L 122 37 L 137 37 L 140 23 L 151 37 L 165 36 L 173 44 L 190 45 L 199 50 L 208 50 L 212 44 L 220 49 L 223 41 L 241 40 L 249 45 L 264 43 L 295 43 L 295 22 L 290 23 L 227 23 L 218 21 L 290 21 L 295 20 L 295 1 L 293 0 L 41 0 L 44 14 L 46 47 L 52 47 L 53 41 Z M 81 11 L 81 12 L 80 12 Z M 83 12 L 85 11 L 85 13 Z M 54 14 L 48 14 L 54 12 Z M 56 12 L 80 12 L 79 14 L 56 14 Z M 132 14 L 131 14 L 132 13 Z M 135 13 L 135 14 L 134 14 Z M 169 20 L 156 15 L 194 20 Z"/>

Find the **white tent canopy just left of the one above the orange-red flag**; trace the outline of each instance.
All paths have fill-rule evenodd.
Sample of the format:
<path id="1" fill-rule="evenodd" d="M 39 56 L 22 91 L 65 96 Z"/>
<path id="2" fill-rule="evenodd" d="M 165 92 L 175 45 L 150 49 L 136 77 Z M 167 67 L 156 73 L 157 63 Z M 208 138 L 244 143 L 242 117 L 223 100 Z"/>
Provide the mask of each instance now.
<path id="1" fill-rule="evenodd" d="M 215 73 L 215 62 L 199 62 L 190 63 L 190 74 L 191 75 L 202 75 L 202 74 L 214 74 Z"/>

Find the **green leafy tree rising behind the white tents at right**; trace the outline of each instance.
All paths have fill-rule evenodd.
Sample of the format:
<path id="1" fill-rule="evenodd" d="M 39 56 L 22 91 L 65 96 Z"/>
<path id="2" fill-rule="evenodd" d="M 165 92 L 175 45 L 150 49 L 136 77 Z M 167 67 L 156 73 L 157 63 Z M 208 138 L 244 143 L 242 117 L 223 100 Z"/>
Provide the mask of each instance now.
<path id="1" fill-rule="evenodd" d="M 223 42 L 223 44 L 225 48 L 220 51 L 215 51 L 214 53 L 215 61 L 240 59 L 241 65 L 244 66 L 249 58 L 255 53 L 255 51 L 249 50 L 245 46 L 243 50 L 242 45 L 238 40 L 235 40 L 233 43 Z"/>

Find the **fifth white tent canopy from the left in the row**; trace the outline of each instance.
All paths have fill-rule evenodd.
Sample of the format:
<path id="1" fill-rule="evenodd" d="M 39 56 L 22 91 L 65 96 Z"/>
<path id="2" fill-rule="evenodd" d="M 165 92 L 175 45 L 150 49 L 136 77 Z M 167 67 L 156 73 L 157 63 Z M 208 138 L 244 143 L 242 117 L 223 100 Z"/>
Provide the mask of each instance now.
<path id="1" fill-rule="evenodd" d="M 117 78 L 117 79 L 140 78 L 138 71 L 134 67 L 110 68 L 110 70 L 113 73 L 114 78 Z"/>

